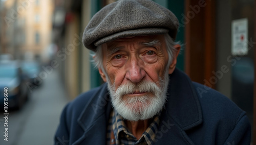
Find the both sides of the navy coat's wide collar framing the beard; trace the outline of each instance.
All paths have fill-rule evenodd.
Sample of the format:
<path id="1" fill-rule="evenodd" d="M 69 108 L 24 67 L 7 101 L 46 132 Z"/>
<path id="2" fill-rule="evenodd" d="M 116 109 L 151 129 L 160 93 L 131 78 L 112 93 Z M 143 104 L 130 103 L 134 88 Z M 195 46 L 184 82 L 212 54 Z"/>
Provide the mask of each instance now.
<path id="1" fill-rule="evenodd" d="M 191 129 L 203 121 L 197 93 L 188 76 L 178 69 L 175 69 L 173 74 L 170 75 L 168 87 L 167 102 L 161 114 L 159 127 L 166 127 L 166 124 L 173 125 L 172 131 L 169 129 L 168 133 L 177 132 L 177 135 L 181 135 L 180 138 L 186 138 L 185 130 Z M 106 134 L 102 132 L 106 132 L 111 109 L 107 84 L 104 83 L 88 102 L 77 120 L 85 132 L 74 144 L 105 144 Z M 90 138 L 95 135 L 93 132 L 98 133 L 100 139 L 92 141 Z M 168 133 L 164 135 L 168 135 Z M 159 141 L 158 143 L 162 144 L 164 142 Z"/>

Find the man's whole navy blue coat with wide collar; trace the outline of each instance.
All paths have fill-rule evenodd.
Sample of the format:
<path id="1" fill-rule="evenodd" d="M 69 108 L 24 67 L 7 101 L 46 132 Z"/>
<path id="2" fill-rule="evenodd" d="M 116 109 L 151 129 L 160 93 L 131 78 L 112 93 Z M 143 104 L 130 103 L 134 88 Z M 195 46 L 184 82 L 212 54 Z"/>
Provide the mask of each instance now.
<path id="1" fill-rule="evenodd" d="M 168 87 L 155 144 L 250 144 L 248 118 L 228 98 L 178 69 Z M 63 109 L 55 144 L 105 144 L 111 109 L 106 83 L 81 94 Z"/>

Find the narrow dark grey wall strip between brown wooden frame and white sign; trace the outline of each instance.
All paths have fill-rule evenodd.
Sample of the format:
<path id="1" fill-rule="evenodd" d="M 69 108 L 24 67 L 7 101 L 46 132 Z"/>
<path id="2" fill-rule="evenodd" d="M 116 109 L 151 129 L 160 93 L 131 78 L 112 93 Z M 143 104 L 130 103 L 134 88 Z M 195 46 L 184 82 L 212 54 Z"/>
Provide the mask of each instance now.
<path id="1" fill-rule="evenodd" d="M 223 65 L 227 66 L 230 70 L 219 79 L 216 89 L 228 98 L 231 98 L 232 70 L 231 64 L 227 62 L 227 57 L 231 52 L 231 0 L 217 1 L 216 30 L 216 70 L 221 70 Z"/>

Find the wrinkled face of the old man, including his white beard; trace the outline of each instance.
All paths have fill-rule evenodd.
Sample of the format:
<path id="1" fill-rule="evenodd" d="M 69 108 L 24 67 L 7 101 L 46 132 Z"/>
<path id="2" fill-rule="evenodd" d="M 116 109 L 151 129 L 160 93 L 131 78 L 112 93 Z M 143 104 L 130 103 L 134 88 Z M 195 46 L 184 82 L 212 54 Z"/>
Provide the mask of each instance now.
<path id="1" fill-rule="evenodd" d="M 121 38 L 103 44 L 102 49 L 117 112 L 132 121 L 152 118 L 166 99 L 168 53 L 164 36 Z"/>

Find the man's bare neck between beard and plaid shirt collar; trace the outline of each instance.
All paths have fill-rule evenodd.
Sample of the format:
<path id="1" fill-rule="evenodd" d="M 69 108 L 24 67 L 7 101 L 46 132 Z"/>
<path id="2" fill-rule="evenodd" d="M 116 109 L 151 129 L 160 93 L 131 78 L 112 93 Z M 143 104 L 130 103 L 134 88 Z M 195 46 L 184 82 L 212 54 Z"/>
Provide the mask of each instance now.
<path id="1" fill-rule="evenodd" d="M 139 140 L 151 122 L 152 122 L 152 119 L 143 120 L 143 121 L 127 121 L 126 120 L 125 125 L 129 129 L 129 131 Z"/>

